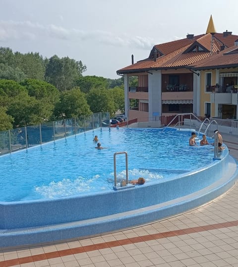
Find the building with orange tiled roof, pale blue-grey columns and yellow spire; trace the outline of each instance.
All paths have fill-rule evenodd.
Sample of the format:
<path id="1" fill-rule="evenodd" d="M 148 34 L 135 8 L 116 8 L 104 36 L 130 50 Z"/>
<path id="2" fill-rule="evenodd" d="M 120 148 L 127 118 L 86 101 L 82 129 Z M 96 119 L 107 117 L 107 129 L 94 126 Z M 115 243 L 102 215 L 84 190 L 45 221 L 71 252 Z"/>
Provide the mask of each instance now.
<path id="1" fill-rule="evenodd" d="M 229 71 L 216 65 L 215 57 L 224 55 L 224 60 L 226 52 L 235 52 L 237 40 L 238 35 L 232 32 L 216 33 L 211 16 L 205 34 L 187 34 L 184 39 L 155 45 L 147 59 L 135 64 L 132 56 L 132 64 L 117 71 L 124 75 L 126 117 L 131 120 L 192 112 L 200 116 L 219 116 L 220 105 L 227 103 L 220 103 L 222 100 L 218 103 L 213 85 L 228 83 Z M 209 66 L 213 57 L 212 66 Z M 203 62 L 204 66 L 199 64 Z M 228 64 L 223 66 L 228 67 Z M 236 70 L 235 65 L 231 67 L 234 67 L 232 72 Z M 137 76 L 137 86 L 130 86 L 131 76 Z M 204 87 L 205 84 L 208 87 Z M 237 79 L 234 79 L 236 84 Z M 220 90 L 222 88 L 220 86 Z M 227 101 L 230 105 L 235 98 Z"/>

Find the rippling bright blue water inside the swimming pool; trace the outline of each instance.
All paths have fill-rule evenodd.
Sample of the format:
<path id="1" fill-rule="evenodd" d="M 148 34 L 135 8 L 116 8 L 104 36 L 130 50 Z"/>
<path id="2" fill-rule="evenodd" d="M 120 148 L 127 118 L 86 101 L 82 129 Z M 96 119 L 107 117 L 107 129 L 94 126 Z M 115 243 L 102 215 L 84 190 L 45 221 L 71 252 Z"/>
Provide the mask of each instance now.
<path id="1" fill-rule="evenodd" d="M 146 183 L 206 166 L 212 146 L 189 147 L 191 132 L 161 129 L 94 130 L 0 157 L 0 201 L 54 199 L 113 190 L 114 153 L 128 153 L 129 180 Z M 95 149 L 94 135 L 105 149 Z M 210 140 L 211 141 L 211 140 Z M 125 179 L 125 157 L 117 156 Z"/>

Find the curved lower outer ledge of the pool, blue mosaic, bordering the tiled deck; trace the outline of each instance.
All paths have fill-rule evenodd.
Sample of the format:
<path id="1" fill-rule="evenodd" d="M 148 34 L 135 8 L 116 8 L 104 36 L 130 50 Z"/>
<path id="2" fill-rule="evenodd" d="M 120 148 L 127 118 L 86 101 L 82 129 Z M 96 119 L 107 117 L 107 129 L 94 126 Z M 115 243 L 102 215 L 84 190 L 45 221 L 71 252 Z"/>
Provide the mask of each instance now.
<path id="1" fill-rule="evenodd" d="M 93 219 L 37 227 L 0 229 L 0 247 L 86 238 L 165 219 L 196 208 L 226 193 L 237 182 L 238 162 L 230 155 L 228 157 L 226 174 L 215 183 L 192 194 L 163 203 Z M 132 190 L 135 190 L 135 188 Z"/>

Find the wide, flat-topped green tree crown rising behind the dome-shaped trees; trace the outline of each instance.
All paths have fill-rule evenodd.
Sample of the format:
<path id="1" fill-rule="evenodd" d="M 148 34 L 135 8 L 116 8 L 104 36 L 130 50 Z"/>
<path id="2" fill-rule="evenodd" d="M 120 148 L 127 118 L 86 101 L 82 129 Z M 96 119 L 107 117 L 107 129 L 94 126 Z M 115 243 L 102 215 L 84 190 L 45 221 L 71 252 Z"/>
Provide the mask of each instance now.
<path id="1" fill-rule="evenodd" d="M 108 81 L 104 77 L 81 76 L 76 80 L 76 85 L 82 92 L 88 93 L 91 89 L 108 88 Z"/>

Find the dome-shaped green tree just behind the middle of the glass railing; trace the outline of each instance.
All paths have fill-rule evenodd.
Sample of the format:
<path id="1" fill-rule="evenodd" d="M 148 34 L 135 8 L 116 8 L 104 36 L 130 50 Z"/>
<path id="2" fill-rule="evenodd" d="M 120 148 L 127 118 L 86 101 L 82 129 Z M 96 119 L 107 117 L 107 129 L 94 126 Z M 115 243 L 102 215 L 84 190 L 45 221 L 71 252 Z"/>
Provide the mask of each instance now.
<path id="1" fill-rule="evenodd" d="M 87 104 L 86 96 L 79 88 L 73 88 L 69 91 L 64 91 L 60 94 L 60 102 L 56 104 L 55 116 L 62 119 L 62 114 L 66 118 L 80 117 L 89 115 L 89 105 Z"/>

